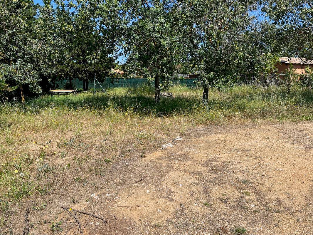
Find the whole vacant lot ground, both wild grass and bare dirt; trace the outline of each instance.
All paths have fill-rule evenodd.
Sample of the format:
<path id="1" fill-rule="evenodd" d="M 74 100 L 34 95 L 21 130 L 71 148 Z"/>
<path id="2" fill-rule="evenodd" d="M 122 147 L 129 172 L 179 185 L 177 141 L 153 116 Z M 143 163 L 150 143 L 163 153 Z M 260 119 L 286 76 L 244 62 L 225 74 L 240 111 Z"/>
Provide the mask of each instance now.
<path id="1" fill-rule="evenodd" d="M 0 232 L 309 234 L 312 92 L 275 89 L 3 105 Z"/>

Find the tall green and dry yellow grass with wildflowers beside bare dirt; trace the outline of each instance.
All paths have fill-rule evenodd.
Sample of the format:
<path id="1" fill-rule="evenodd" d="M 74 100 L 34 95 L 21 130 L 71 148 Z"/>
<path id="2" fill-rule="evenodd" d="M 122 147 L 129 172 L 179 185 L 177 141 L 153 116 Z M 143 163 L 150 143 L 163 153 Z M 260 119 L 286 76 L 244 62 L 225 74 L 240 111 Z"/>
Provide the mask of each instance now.
<path id="1" fill-rule="evenodd" d="M 105 175 L 113 159 L 144 157 L 146 150 L 188 128 L 313 119 L 312 91 L 302 87 L 289 94 L 280 87 L 211 89 L 206 104 L 201 89 L 174 86 L 170 92 L 174 98 L 161 98 L 159 104 L 148 86 L 96 96 L 44 95 L 25 106 L 0 103 L 0 226 L 23 199 L 36 199 L 33 206 L 40 206 L 51 193 L 85 186 L 90 175 Z"/>

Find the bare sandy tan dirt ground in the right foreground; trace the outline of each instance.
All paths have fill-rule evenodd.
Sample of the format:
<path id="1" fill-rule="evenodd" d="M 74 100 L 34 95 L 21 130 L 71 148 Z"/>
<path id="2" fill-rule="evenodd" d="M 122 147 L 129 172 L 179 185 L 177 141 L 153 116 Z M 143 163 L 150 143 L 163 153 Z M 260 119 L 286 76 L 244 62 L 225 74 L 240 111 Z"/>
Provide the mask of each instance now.
<path id="1" fill-rule="evenodd" d="M 195 128 L 173 144 L 55 197 L 30 234 L 79 232 L 58 205 L 109 220 L 76 212 L 84 234 L 313 234 L 313 123 Z"/>

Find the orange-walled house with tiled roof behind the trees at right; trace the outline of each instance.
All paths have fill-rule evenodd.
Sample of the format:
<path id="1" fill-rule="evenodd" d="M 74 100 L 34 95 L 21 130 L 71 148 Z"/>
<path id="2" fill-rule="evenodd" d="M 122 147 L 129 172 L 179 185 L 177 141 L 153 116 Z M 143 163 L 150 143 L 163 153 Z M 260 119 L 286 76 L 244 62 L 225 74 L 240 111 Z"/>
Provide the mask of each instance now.
<path id="1" fill-rule="evenodd" d="M 305 58 L 299 57 L 280 57 L 279 59 L 280 63 L 276 65 L 278 74 L 284 74 L 285 71 L 289 68 L 290 64 L 293 65 L 296 73 L 300 75 L 305 74 L 306 66 L 313 68 L 313 60 L 307 60 Z"/>

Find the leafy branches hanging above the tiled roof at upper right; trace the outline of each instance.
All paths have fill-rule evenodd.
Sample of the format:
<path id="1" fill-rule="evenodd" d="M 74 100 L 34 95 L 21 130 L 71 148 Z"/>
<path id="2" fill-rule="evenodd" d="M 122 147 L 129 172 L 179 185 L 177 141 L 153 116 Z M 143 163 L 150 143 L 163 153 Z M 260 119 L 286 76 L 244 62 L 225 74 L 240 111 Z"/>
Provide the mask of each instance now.
<path id="1" fill-rule="evenodd" d="M 263 11 L 276 25 L 282 54 L 313 59 L 313 3 L 311 0 L 268 0 Z"/>

